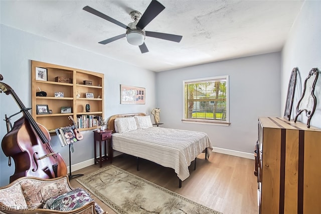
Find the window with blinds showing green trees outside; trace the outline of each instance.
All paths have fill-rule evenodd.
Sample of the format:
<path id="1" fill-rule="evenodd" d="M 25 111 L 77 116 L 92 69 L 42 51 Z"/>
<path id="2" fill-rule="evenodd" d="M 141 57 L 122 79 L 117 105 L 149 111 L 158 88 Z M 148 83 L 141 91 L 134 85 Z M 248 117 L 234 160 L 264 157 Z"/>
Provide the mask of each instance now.
<path id="1" fill-rule="evenodd" d="M 183 81 L 183 122 L 229 125 L 229 76 Z"/>

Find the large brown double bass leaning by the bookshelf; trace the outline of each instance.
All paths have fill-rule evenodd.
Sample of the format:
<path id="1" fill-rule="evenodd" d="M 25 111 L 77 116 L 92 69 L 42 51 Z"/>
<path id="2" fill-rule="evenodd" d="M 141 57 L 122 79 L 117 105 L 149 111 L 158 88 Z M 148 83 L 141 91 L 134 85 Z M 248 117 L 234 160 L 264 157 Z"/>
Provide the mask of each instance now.
<path id="1" fill-rule="evenodd" d="M 0 80 L 3 80 L 1 74 Z M 3 152 L 15 161 L 15 173 L 10 176 L 10 183 L 24 176 L 55 178 L 66 175 L 66 163 L 51 148 L 48 130 L 33 119 L 28 112 L 30 109 L 25 107 L 9 85 L 0 82 L 0 92 L 11 94 L 23 114 L 2 140 Z"/>

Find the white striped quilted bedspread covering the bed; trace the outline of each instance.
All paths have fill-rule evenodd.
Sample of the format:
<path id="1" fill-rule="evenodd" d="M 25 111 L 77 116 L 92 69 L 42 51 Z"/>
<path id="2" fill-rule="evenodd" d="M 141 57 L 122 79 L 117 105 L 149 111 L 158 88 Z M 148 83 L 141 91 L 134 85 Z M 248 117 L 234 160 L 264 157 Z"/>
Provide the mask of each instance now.
<path id="1" fill-rule="evenodd" d="M 188 166 L 212 143 L 204 132 L 152 127 L 112 135 L 113 149 L 150 160 L 175 170 L 183 181 L 190 176 Z"/>

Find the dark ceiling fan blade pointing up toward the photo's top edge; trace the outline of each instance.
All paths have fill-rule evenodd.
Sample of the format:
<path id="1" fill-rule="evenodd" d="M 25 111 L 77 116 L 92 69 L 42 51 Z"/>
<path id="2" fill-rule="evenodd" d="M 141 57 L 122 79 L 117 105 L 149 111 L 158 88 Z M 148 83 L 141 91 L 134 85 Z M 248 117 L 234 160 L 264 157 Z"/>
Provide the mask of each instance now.
<path id="1" fill-rule="evenodd" d="M 165 7 L 157 2 L 156 0 L 152 0 L 151 3 L 148 5 L 146 11 L 139 19 L 136 27 L 140 28 L 141 30 L 150 23 L 151 20 L 153 20 L 159 13 L 161 13 Z"/>

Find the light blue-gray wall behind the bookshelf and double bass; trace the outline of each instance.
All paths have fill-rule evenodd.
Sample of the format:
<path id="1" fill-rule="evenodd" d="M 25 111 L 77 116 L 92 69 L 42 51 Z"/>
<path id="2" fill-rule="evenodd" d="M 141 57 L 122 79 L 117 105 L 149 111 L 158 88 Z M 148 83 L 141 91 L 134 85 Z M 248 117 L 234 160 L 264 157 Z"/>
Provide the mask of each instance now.
<path id="1" fill-rule="evenodd" d="M 8 26 L 1 25 L 1 74 L 2 82 L 10 85 L 25 106 L 31 106 L 31 60 L 43 61 L 68 67 L 80 68 L 105 74 L 105 118 L 122 113 L 143 112 L 150 114 L 155 106 L 155 73 L 149 70 L 121 63 L 101 55 L 71 47 L 59 42 L 29 34 Z M 108 48 L 106 47 L 106 51 Z M 144 87 L 146 104 L 120 104 L 120 84 Z M 8 116 L 20 109 L 11 95 L 0 94 L 0 139 L 7 134 Z M 12 122 L 18 118 L 14 117 Z M 93 133 L 82 132 L 84 139 L 74 145 L 72 165 L 94 157 Z M 69 165 L 68 147 L 60 147 L 56 136 L 52 136 L 51 146 L 61 153 Z M 12 161 L 13 162 L 13 161 Z M 13 162 L 14 164 L 14 162 Z M 0 151 L 0 186 L 9 183 L 9 176 L 14 174 L 15 166 L 8 166 L 8 158 Z"/>

